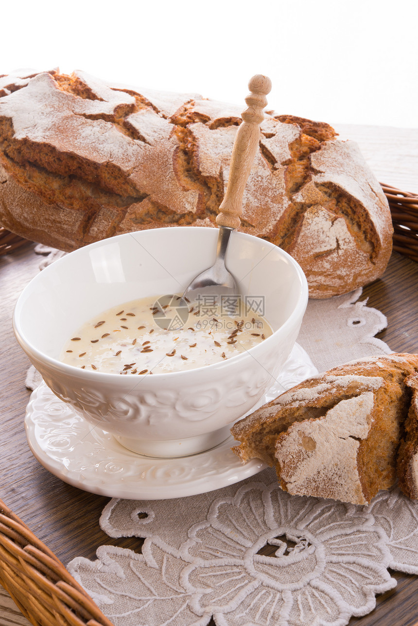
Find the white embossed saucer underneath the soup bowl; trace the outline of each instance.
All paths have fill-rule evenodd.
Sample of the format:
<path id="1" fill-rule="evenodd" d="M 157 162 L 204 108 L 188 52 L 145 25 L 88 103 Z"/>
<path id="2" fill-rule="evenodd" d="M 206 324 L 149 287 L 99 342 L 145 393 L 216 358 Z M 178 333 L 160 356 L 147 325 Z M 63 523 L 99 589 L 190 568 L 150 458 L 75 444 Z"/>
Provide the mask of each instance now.
<path id="1" fill-rule="evenodd" d="M 308 354 L 295 344 L 278 381 L 254 408 L 317 373 Z M 112 498 L 192 496 L 238 483 L 266 468 L 259 459 L 243 465 L 230 449 L 232 436 L 211 450 L 182 458 L 133 453 L 74 413 L 44 382 L 31 394 L 24 423 L 29 447 L 46 469 L 70 485 Z"/>

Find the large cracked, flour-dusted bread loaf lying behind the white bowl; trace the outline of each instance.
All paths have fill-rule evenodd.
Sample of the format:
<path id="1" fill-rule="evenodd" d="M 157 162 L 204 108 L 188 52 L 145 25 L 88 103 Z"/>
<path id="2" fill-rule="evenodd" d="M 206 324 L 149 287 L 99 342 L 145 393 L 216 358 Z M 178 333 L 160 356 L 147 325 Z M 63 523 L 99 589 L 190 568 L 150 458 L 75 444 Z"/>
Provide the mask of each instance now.
<path id="1" fill-rule="evenodd" d="M 0 223 L 61 250 L 142 228 L 214 227 L 243 108 L 83 72 L 0 76 Z M 387 200 L 357 145 L 272 112 L 241 230 L 293 255 L 311 297 L 377 279 L 392 245 Z"/>

